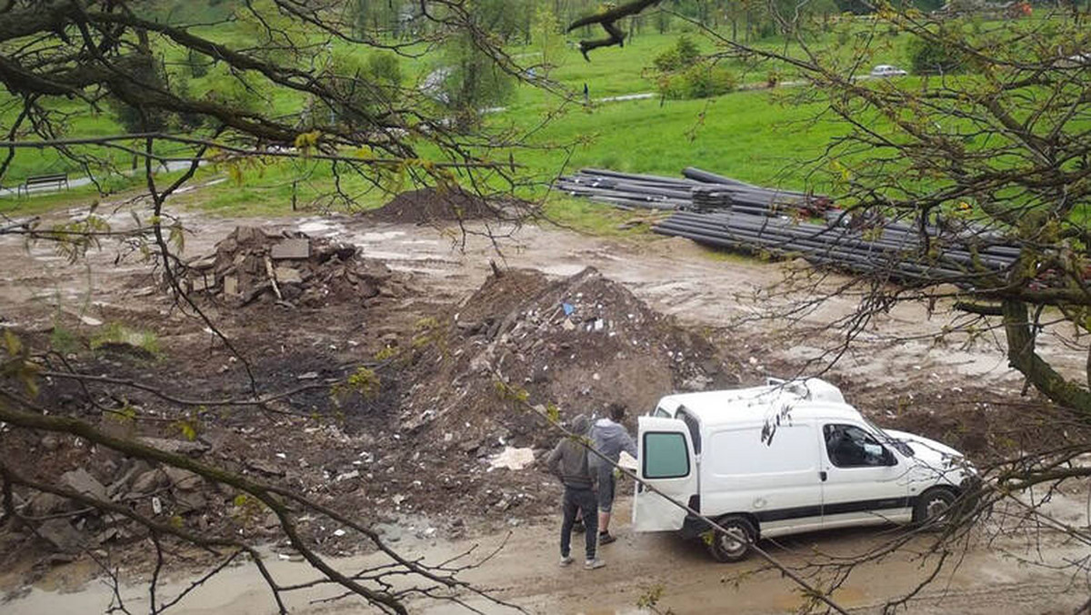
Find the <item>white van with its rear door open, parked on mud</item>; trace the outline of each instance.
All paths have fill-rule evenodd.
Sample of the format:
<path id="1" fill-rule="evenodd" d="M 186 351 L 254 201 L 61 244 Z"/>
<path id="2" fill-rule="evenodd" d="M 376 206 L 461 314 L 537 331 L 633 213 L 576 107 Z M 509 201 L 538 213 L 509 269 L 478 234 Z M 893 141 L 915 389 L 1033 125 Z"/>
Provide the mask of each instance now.
<path id="1" fill-rule="evenodd" d="M 668 395 L 638 422 L 637 475 L 729 530 L 708 541 L 720 561 L 760 537 L 942 518 L 976 475 L 958 451 L 876 427 L 816 378 Z M 633 528 L 709 530 L 639 484 Z"/>

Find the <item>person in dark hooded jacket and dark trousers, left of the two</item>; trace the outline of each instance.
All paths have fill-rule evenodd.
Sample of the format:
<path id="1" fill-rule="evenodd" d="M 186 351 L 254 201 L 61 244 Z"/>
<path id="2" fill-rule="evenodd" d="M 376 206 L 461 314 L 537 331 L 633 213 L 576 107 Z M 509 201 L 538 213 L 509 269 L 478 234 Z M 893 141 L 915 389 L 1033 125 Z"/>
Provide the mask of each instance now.
<path id="1" fill-rule="evenodd" d="M 572 419 L 571 430 L 579 437 L 585 437 L 589 423 L 588 418 L 580 414 Z M 550 473 L 564 484 L 564 498 L 561 502 L 564 510 L 564 521 L 561 523 L 561 566 L 567 566 L 573 561 L 570 555 L 572 527 L 576 521 L 576 513 L 579 512 L 583 515 L 584 524 L 587 528 L 587 533 L 584 536 L 584 551 L 587 556 L 584 568 L 594 570 L 606 566 L 606 563 L 596 556 L 598 548 L 596 540 L 598 518 L 595 515 L 597 477 L 588 465 L 587 457 L 587 448 L 584 445 L 564 437 L 550 453 L 548 464 Z"/>

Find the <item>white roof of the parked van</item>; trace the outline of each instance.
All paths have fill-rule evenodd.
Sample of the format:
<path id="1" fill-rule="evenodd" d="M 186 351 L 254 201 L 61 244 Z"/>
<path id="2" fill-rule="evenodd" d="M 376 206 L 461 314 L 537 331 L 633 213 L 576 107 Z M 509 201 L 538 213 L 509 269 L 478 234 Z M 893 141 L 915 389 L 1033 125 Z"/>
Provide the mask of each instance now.
<path id="1" fill-rule="evenodd" d="M 680 406 L 706 426 L 759 423 L 790 406 L 793 418 L 854 418 L 860 412 L 844 402 L 841 391 L 818 378 L 775 382 L 764 387 L 679 393 L 659 400 L 672 416 Z"/>

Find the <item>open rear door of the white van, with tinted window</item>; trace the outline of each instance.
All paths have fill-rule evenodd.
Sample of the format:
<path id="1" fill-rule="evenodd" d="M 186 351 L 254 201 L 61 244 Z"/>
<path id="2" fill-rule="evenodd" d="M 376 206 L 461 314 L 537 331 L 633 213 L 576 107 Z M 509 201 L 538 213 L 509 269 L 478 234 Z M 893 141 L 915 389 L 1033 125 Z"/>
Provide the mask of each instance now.
<path id="1" fill-rule="evenodd" d="M 685 423 L 678 418 L 640 416 L 637 430 L 636 475 L 667 496 L 687 504 L 697 493 L 697 464 Z M 640 484 L 633 498 L 633 529 L 637 532 L 681 530 L 685 509 Z"/>

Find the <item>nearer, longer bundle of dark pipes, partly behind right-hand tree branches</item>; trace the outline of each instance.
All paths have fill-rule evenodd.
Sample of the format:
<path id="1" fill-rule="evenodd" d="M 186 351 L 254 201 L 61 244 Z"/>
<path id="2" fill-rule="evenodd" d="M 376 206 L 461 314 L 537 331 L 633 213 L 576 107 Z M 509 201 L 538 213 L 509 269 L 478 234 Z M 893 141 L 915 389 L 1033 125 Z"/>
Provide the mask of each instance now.
<path id="1" fill-rule="evenodd" d="M 1010 268 L 1018 251 L 1010 246 L 978 247 L 943 236 L 930 238 L 928 245 L 934 248 L 938 239 L 946 244 L 944 249 L 930 251 L 919 230 L 908 225 L 860 232 L 739 212 L 678 212 L 652 230 L 719 248 L 802 257 L 815 264 L 882 273 L 909 283 L 938 279 L 972 284 L 975 277 Z"/>

